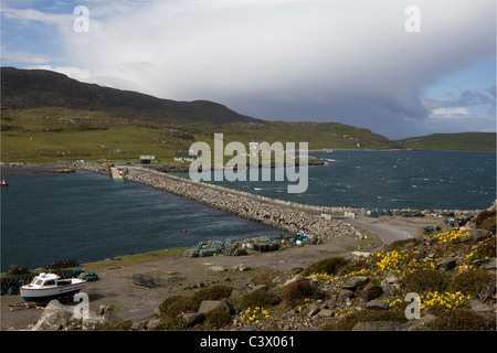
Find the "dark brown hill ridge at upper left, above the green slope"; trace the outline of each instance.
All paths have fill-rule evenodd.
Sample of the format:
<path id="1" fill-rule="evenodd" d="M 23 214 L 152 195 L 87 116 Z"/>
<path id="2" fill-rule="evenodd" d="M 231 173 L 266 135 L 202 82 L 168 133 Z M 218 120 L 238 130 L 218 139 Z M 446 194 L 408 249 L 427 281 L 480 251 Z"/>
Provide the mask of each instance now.
<path id="1" fill-rule="evenodd" d="M 2 109 L 85 109 L 163 124 L 264 122 L 209 100 L 160 99 L 136 92 L 81 83 L 45 69 L 1 67 L 1 88 Z"/>

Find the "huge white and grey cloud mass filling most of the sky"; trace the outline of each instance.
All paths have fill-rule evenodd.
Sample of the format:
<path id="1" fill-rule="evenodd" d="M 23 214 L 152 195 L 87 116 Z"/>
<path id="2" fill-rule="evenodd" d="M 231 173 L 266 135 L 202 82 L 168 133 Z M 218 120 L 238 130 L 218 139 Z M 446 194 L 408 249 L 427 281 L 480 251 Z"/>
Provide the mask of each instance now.
<path id="1" fill-rule="evenodd" d="M 421 33 L 405 31 L 412 3 L 402 0 L 113 1 L 114 10 L 92 1 L 89 33 L 65 32 L 67 67 L 53 66 L 85 82 L 212 99 L 260 118 L 410 133 L 405 119 L 464 116 L 426 107 L 424 86 L 495 60 L 495 3 L 417 2 Z M 8 15 L 60 23 L 19 11 Z"/>

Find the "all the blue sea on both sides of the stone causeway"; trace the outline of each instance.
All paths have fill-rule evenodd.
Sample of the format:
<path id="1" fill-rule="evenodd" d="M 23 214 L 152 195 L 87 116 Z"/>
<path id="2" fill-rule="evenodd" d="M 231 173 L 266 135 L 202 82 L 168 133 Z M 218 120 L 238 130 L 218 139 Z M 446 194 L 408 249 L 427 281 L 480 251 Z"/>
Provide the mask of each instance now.
<path id="1" fill-rule="evenodd" d="M 313 152 L 305 193 L 287 182 L 216 182 L 305 204 L 381 208 L 486 208 L 496 199 L 496 154 L 448 151 Z M 1 271 L 54 259 L 81 263 L 200 240 L 281 231 L 133 182 L 78 171 L 1 170 Z M 184 231 L 184 232 L 183 232 Z"/>

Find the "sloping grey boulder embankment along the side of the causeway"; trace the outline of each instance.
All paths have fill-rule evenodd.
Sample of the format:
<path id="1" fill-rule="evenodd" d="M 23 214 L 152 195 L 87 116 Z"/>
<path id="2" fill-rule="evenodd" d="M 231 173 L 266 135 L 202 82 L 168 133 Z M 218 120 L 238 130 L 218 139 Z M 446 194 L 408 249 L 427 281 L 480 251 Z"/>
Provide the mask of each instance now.
<path id="1" fill-rule="evenodd" d="M 320 214 L 279 205 L 278 201 L 268 197 L 260 197 L 148 169 L 126 168 L 124 175 L 129 181 L 163 190 L 251 221 L 262 222 L 292 234 L 305 234 L 320 239 L 360 236 L 360 233 L 348 223 L 327 220 Z"/>

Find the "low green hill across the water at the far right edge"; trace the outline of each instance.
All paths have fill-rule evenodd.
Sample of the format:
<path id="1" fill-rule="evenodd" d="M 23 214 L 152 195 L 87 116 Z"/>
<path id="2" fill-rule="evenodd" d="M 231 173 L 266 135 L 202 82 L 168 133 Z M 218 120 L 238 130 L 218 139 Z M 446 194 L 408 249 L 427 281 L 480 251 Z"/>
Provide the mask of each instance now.
<path id="1" fill-rule="evenodd" d="M 495 152 L 496 136 L 495 132 L 433 133 L 395 142 L 403 148 Z"/>

